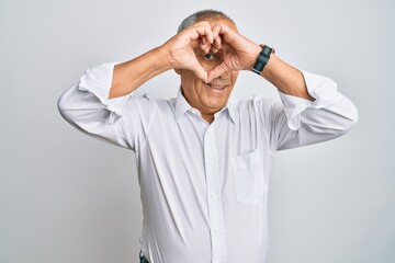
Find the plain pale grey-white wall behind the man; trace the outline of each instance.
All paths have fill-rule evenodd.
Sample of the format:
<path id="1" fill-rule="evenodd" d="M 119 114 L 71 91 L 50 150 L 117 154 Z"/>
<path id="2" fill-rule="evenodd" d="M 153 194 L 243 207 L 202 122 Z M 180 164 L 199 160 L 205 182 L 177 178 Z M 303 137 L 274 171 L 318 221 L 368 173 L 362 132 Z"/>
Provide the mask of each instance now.
<path id="1" fill-rule="evenodd" d="M 207 8 L 285 61 L 332 78 L 359 108 L 346 136 L 279 153 L 269 262 L 395 262 L 393 0 L 1 0 L 1 263 L 137 262 L 134 153 L 74 129 L 56 101 L 87 68 L 161 45 Z M 170 98 L 178 87 L 168 71 L 137 93 Z M 278 95 L 251 72 L 235 89 Z"/>

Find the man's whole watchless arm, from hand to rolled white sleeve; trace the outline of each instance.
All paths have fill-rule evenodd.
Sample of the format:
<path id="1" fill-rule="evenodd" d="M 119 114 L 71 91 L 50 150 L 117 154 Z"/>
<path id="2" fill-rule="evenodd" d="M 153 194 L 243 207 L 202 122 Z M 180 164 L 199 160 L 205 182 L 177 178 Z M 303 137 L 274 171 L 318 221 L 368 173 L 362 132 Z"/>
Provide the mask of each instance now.
<path id="1" fill-rule="evenodd" d="M 208 42 L 202 43 L 201 36 Z M 206 79 L 193 48 L 207 50 L 214 38 L 210 24 L 200 22 L 129 61 L 88 69 L 61 94 L 59 112 L 72 126 L 93 137 L 135 149 L 145 140 L 154 106 L 147 98 L 131 99 L 131 93 L 171 68 L 190 69 Z"/>

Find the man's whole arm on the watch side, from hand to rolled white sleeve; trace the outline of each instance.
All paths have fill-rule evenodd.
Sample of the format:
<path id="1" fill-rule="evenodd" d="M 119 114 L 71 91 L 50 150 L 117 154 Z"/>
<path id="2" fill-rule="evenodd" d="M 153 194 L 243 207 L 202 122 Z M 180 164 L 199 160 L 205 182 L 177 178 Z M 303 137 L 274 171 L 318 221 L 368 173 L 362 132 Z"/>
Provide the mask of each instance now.
<path id="1" fill-rule="evenodd" d="M 214 31 L 222 35 L 221 48 L 227 53 L 224 61 L 208 72 L 208 79 L 228 70 L 250 71 L 261 47 L 226 25 L 217 24 Z M 262 101 L 257 108 L 262 114 L 261 121 L 271 130 L 274 150 L 332 139 L 357 123 L 356 106 L 326 77 L 302 73 L 274 54 L 261 77 L 278 88 L 282 101 L 282 104 Z"/>

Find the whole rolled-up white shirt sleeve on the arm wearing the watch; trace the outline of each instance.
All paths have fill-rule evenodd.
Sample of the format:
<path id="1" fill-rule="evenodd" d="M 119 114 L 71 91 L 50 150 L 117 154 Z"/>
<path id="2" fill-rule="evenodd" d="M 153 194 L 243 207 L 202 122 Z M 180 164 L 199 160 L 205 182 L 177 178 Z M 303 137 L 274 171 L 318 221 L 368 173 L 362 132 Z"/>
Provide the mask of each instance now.
<path id="1" fill-rule="evenodd" d="M 280 92 L 282 103 L 270 108 L 271 141 L 276 150 L 337 138 L 358 121 L 354 104 L 337 90 L 331 79 L 302 71 L 314 102 Z"/>

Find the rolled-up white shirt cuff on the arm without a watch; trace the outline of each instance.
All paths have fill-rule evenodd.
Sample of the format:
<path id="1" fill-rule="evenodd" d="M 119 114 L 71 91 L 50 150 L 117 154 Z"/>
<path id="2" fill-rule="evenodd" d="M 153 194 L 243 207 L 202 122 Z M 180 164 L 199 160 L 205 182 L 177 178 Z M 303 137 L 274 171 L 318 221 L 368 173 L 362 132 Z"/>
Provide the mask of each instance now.
<path id="1" fill-rule="evenodd" d="M 115 123 L 122 117 L 122 108 L 132 94 L 109 99 L 114 66 L 117 62 L 101 64 L 88 69 L 79 81 L 78 89 L 97 96 L 106 110 L 111 112 L 109 123 Z"/>

